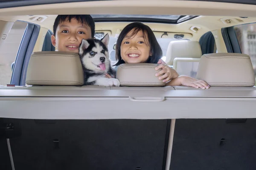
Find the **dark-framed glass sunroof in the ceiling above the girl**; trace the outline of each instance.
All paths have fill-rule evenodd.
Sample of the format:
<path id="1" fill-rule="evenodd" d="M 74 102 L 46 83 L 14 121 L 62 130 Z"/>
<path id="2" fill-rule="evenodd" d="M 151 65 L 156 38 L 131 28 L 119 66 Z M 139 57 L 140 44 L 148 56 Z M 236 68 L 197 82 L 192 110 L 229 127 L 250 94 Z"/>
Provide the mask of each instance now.
<path id="1" fill-rule="evenodd" d="M 151 22 L 151 23 L 181 23 L 198 16 L 192 15 L 123 15 L 123 14 L 92 14 L 95 22 Z"/>

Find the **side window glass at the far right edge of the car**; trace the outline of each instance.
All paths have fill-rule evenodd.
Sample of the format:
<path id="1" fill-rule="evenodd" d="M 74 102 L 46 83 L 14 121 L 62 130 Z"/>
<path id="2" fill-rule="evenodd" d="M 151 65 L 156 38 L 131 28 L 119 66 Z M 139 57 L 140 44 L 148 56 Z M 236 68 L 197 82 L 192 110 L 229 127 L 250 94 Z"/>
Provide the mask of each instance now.
<path id="1" fill-rule="evenodd" d="M 256 74 L 256 23 L 234 26 L 242 54 L 248 54 Z"/>

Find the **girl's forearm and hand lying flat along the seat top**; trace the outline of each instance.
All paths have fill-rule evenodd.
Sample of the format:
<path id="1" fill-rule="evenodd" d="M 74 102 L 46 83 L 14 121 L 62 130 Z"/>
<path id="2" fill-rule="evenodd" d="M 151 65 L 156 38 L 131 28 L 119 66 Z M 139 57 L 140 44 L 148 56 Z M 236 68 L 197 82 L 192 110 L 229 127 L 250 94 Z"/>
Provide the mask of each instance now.
<path id="1" fill-rule="evenodd" d="M 208 89 L 210 87 L 204 80 L 195 79 L 185 75 L 181 75 L 175 79 L 172 79 L 172 81 L 169 82 L 168 85 L 184 85 L 202 89 Z"/>

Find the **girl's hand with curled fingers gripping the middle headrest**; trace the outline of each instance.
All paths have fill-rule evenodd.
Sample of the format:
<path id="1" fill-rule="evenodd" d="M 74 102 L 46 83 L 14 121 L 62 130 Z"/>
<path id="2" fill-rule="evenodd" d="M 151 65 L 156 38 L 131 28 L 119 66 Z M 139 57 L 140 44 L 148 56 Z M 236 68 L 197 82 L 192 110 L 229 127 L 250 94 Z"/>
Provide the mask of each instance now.
<path id="1" fill-rule="evenodd" d="M 168 82 L 171 79 L 174 79 L 176 77 L 179 76 L 179 74 L 177 73 L 177 71 L 175 71 L 175 69 L 170 68 L 168 65 L 166 65 L 166 63 L 162 60 L 159 59 L 159 61 L 157 62 L 158 65 L 155 70 L 159 70 L 160 68 L 162 68 L 161 71 L 159 71 L 155 76 L 158 77 L 159 80 L 163 80 L 163 82 Z M 163 75 L 162 75 L 163 74 Z M 161 76 L 160 76 L 161 75 Z"/>

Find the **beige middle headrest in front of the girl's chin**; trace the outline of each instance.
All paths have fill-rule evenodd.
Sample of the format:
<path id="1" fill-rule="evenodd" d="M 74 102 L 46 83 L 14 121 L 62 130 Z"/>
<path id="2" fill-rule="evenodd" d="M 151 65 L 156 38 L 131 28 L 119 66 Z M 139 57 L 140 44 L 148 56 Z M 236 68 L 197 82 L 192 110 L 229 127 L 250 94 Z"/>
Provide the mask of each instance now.
<path id="1" fill-rule="evenodd" d="M 116 78 L 121 86 L 165 86 L 163 80 L 158 80 L 155 70 L 158 64 L 138 63 L 121 64 L 117 68 Z"/>

